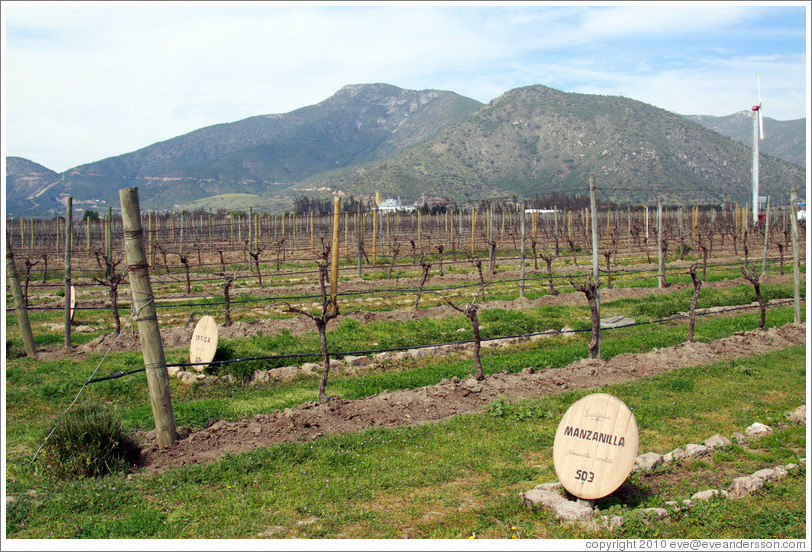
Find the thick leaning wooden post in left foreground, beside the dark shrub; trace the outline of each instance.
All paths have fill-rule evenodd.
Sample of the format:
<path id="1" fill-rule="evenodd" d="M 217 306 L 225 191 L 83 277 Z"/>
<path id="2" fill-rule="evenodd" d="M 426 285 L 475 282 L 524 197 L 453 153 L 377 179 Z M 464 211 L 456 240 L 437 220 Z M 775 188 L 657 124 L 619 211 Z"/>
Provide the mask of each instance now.
<path id="1" fill-rule="evenodd" d="M 119 190 L 121 215 L 124 226 L 124 250 L 127 255 L 127 271 L 133 292 L 133 307 L 138 322 L 138 336 L 147 372 L 149 400 L 155 420 L 158 446 L 168 447 L 177 440 L 172 398 L 169 395 L 169 374 L 166 371 L 164 347 L 158 329 L 158 316 L 149 279 L 144 234 L 141 229 L 141 205 L 138 188 Z"/>

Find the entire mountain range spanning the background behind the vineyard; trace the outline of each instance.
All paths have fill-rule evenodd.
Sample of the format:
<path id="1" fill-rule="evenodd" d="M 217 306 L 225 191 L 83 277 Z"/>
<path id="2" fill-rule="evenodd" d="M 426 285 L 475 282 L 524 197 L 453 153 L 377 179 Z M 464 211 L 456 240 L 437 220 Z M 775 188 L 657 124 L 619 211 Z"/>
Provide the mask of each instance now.
<path id="1" fill-rule="evenodd" d="M 783 131 L 771 124 L 777 142 Z M 61 214 L 68 195 L 84 208 L 115 208 L 126 186 L 139 187 L 145 209 L 256 197 L 257 209 L 277 211 L 297 196 L 339 191 L 460 201 L 584 194 L 590 175 L 602 199 L 620 203 L 749 203 L 751 188 L 750 148 L 690 118 L 541 85 L 487 105 L 453 92 L 350 85 L 290 113 L 201 128 L 59 175 L 22 161 L 8 164 L 8 207 L 26 216 Z M 762 151 L 760 170 L 773 204 L 793 185 L 805 193 L 797 165 Z"/>

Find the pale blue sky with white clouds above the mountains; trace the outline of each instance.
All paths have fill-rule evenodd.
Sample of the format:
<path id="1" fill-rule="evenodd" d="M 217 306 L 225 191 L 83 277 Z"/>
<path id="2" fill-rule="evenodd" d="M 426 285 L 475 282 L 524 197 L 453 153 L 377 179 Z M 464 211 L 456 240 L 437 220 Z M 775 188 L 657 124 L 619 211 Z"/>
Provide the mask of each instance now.
<path id="1" fill-rule="evenodd" d="M 807 2 L 516 5 L 4 1 L 3 153 L 55 171 L 318 103 L 346 84 L 622 95 L 807 117 Z M 769 139 L 769 136 L 767 136 Z"/>

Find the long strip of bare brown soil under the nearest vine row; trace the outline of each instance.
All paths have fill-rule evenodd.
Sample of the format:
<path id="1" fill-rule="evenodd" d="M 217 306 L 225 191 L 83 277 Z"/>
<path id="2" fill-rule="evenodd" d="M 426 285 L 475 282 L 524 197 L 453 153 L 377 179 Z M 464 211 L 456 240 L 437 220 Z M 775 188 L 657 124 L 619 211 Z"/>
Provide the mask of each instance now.
<path id="1" fill-rule="evenodd" d="M 179 440 L 165 449 L 155 443 L 154 431 L 148 432 L 142 436 L 142 465 L 147 471 L 160 472 L 286 441 L 312 441 L 324 435 L 373 427 L 436 422 L 480 412 L 500 397 L 516 401 L 573 389 L 591 389 L 686 366 L 763 354 L 803 344 L 805 340 L 805 323 L 786 324 L 766 331 L 739 332 L 711 343 L 686 342 L 647 353 L 622 354 L 610 360 L 584 359 L 565 368 L 497 373 L 481 382 L 473 378 L 453 378 L 418 389 L 383 391 L 359 400 L 334 396 L 324 403 L 308 402 L 244 420 L 216 421 L 207 428 L 180 428 Z"/>

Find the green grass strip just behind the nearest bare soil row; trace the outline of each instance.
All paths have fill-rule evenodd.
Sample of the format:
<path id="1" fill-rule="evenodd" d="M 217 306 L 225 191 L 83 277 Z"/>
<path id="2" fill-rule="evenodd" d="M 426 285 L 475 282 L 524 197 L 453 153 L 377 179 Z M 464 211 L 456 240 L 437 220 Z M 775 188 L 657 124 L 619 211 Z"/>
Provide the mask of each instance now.
<path id="1" fill-rule="evenodd" d="M 785 291 L 776 286 L 774 296 L 780 297 Z M 781 292 L 781 293 L 779 293 Z M 638 307 L 624 302 L 607 303 L 604 315 L 623 314 L 627 308 L 637 308 L 640 314 L 673 314 L 682 308 L 675 294 L 651 296 L 641 300 Z M 683 292 L 676 295 L 682 296 Z M 734 290 L 713 290 L 713 303 L 749 302 L 747 290 L 739 286 Z M 620 306 L 616 306 L 620 303 Z M 665 306 L 663 306 L 665 305 Z M 744 314 L 729 317 L 707 316 L 698 319 L 695 330 L 697 341 L 711 341 L 732 335 L 737 331 L 757 328 L 757 311 L 741 311 Z M 637 313 L 635 313 L 637 315 Z M 643 320 L 645 316 L 639 319 Z M 529 311 L 508 311 L 495 309 L 484 311 L 480 317 L 484 326 L 484 337 L 543 331 L 561 328 L 569 323 L 576 329 L 589 328 L 585 307 L 538 307 Z M 577 320 L 577 322 L 573 322 Z M 767 312 L 767 327 L 782 325 L 792 321 L 792 308 L 780 307 Z M 463 332 L 458 330 L 463 329 Z M 602 332 L 602 356 L 611 358 L 627 352 L 645 352 L 656 347 L 670 347 L 685 340 L 685 321 L 652 324 L 639 327 L 620 328 Z M 438 341 L 470 339 L 471 329 L 467 319 L 451 317 L 447 319 L 420 319 L 406 322 L 376 322 L 359 325 L 345 319 L 329 334 L 333 350 L 355 350 L 365 347 L 386 348 Z M 519 372 L 533 366 L 542 369 L 548 366 L 563 367 L 584 358 L 590 334 L 579 333 L 571 337 L 556 337 L 535 343 L 525 343 L 509 348 L 487 349 L 483 351 L 485 372 L 507 370 Z M 223 344 L 225 356 L 249 357 L 268 354 L 290 354 L 318 350 L 315 332 L 304 336 L 281 334 L 276 336 L 253 336 Z M 21 344 L 17 345 L 21 348 Z M 188 352 L 176 350 L 167 352 L 170 362 L 188 360 Z M 74 399 L 93 371 L 101 355 L 91 355 L 87 361 L 73 359 L 54 361 L 32 361 L 27 358 L 10 360 L 7 364 L 7 434 L 10 440 L 17 440 L 28 448 L 36 450 L 41 443 L 39 432 L 44 431 L 51 420 L 61 414 Z M 269 369 L 281 362 L 251 361 L 226 365 L 224 368 L 242 377 L 254 370 Z M 112 354 L 102 364 L 96 375 L 113 372 L 126 372 L 143 367 L 140 351 Z M 374 395 L 384 389 L 394 391 L 433 385 L 444 378 L 466 377 L 472 369 L 470 359 L 457 355 L 441 358 L 409 359 L 391 363 L 381 369 L 355 377 L 336 377 L 328 382 L 329 395 L 340 395 L 346 399 L 358 399 Z M 302 402 L 315 400 L 318 396 L 316 378 L 302 378 L 288 384 L 269 385 L 223 385 L 212 387 L 188 386 L 172 379 L 172 398 L 175 418 L 179 426 L 202 427 L 210 418 L 238 419 L 245 416 L 284 409 Z M 145 376 L 136 374 L 117 380 L 91 384 L 83 392 L 83 399 L 116 404 L 122 412 L 125 428 L 147 430 L 153 427 L 149 407 Z M 33 450 L 31 454 L 33 455 Z"/>

